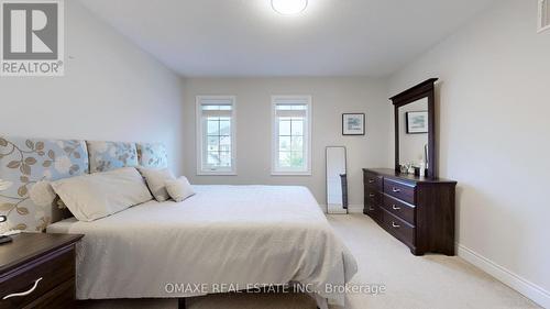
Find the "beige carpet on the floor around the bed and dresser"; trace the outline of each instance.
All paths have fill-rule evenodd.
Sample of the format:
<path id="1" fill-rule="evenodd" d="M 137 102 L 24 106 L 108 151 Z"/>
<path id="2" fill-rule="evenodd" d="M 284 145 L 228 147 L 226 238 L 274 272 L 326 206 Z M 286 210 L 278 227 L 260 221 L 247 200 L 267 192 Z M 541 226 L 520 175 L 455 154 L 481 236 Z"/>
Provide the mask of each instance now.
<path id="1" fill-rule="evenodd" d="M 359 263 L 353 284 L 380 284 L 385 294 L 354 294 L 346 309 L 406 308 L 539 308 L 529 299 L 459 257 L 414 256 L 408 249 L 363 214 L 330 216 L 329 220 Z M 97 300 L 82 309 L 177 308 L 175 300 Z M 309 309 L 305 295 L 211 295 L 188 301 L 189 309 Z"/>

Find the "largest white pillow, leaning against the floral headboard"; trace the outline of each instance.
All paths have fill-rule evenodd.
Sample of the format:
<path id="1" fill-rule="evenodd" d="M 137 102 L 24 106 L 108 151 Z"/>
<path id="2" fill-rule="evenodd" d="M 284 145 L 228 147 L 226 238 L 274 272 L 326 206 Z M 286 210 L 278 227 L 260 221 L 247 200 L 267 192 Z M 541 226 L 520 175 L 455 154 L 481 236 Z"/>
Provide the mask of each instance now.
<path id="1" fill-rule="evenodd" d="M 80 221 L 94 221 L 153 199 L 134 167 L 65 178 L 52 187 Z"/>

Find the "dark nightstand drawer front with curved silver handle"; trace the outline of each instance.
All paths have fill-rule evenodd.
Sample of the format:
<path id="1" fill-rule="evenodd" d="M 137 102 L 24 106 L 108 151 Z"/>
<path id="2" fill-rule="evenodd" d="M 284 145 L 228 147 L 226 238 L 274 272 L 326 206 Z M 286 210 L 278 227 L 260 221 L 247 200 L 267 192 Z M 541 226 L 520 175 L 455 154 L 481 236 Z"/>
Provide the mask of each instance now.
<path id="1" fill-rule="evenodd" d="M 0 277 L 0 308 L 23 308 L 57 286 L 74 279 L 73 247 L 33 260 Z M 3 299 L 6 297 L 8 298 Z M 70 297 L 74 297 L 74 290 Z"/>

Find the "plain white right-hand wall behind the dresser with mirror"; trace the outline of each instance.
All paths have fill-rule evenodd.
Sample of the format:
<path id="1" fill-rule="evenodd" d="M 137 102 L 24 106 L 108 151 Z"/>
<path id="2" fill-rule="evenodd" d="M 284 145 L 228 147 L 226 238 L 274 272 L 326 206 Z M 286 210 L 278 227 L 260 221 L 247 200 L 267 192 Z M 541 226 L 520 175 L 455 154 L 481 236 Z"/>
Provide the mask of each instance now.
<path id="1" fill-rule="evenodd" d="M 395 74 L 389 93 L 440 78 L 439 167 L 459 181 L 460 252 L 550 308 L 550 32 L 536 33 L 536 2 L 501 2 Z"/>

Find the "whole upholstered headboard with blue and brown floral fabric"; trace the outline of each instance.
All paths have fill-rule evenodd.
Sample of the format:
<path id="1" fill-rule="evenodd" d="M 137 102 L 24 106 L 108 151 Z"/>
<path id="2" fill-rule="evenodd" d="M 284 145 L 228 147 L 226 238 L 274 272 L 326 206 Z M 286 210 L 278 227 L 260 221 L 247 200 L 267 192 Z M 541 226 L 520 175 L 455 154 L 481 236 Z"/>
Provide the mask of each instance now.
<path id="1" fill-rule="evenodd" d="M 8 217 L 9 229 L 43 231 L 63 219 L 66 210 L 57 200 L 32 198 L 35 184 L 138 165 L 166 168 L 166 147 L 160 143 L 0 136 L 0 213 Z"/>

